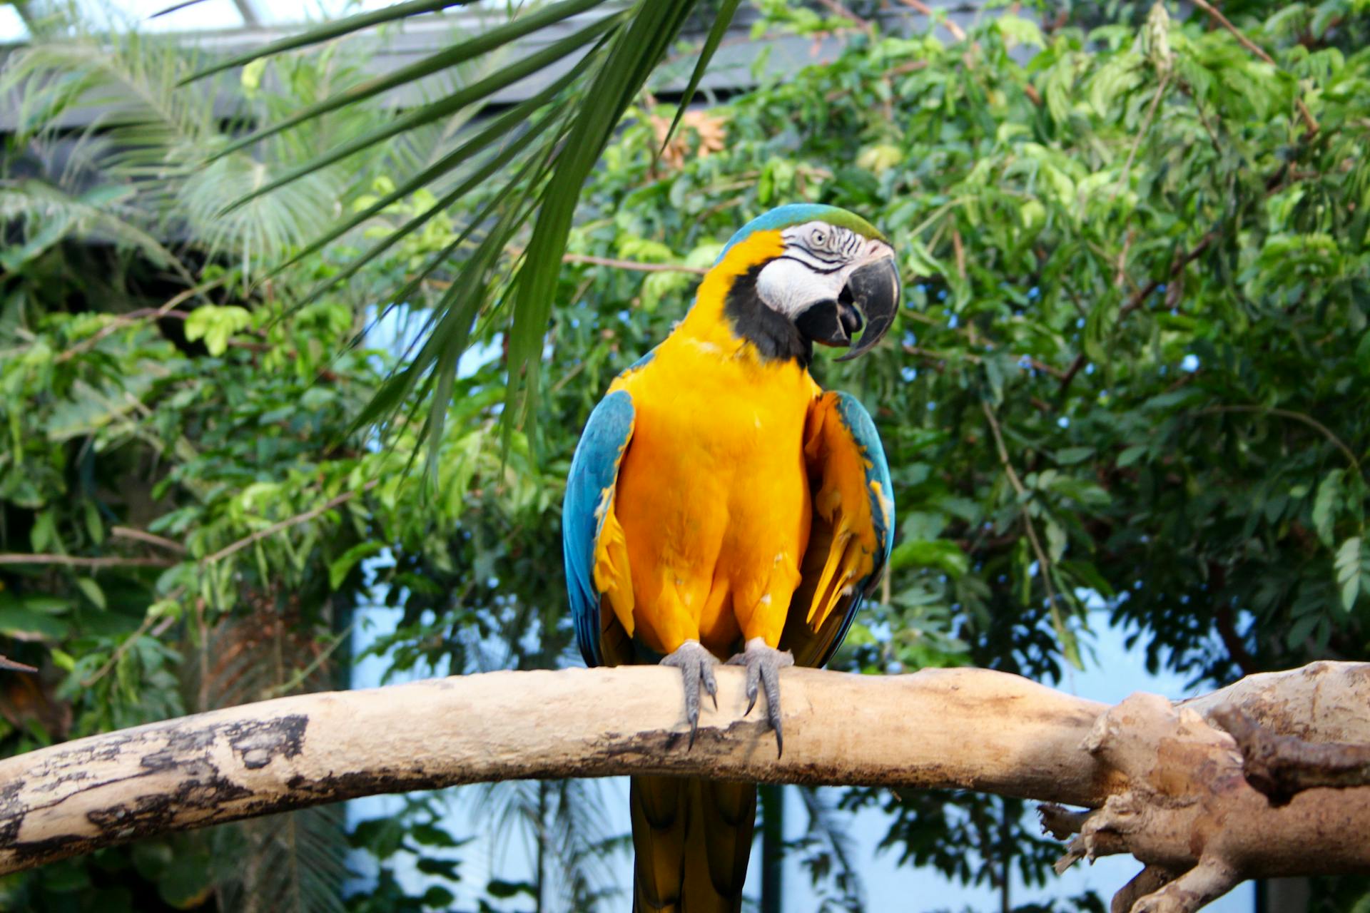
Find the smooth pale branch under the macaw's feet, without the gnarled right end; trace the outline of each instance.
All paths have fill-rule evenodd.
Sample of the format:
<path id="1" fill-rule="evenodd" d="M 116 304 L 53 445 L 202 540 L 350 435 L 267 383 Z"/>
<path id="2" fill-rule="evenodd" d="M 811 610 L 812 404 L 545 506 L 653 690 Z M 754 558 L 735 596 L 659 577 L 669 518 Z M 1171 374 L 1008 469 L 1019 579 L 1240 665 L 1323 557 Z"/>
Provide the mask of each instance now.
<path id="1" fill-rule="evenodd" d="M 659 667 L 307 694 L 40 749 L 0 761 L 0 873 L 151 834 L 486 780 L 703 773 L 1084 805 L 1121 786 L 1080 749 L 1106 705 L 1018 676 L 786 669 L 782 758 L 764 715 L 744 713 L 744 671 L 717 678 L 719 709 L 706 704 L 692 749 L 680 675 Z"/>

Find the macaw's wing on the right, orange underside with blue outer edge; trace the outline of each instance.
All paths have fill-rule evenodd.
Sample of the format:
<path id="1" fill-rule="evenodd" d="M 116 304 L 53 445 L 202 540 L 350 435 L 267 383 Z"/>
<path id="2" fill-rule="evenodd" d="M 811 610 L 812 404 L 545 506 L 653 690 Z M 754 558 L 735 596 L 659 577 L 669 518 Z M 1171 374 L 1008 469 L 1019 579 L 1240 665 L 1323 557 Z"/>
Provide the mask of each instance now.
<path id="1" fill-rule="evenodd" d="M 815 401 L 804 460 L 814 522 L 781 647 L 793 650 L 799 665 L 823 665 L 889 564 L 893 486 L 875 423 L 848 393 Z"/>

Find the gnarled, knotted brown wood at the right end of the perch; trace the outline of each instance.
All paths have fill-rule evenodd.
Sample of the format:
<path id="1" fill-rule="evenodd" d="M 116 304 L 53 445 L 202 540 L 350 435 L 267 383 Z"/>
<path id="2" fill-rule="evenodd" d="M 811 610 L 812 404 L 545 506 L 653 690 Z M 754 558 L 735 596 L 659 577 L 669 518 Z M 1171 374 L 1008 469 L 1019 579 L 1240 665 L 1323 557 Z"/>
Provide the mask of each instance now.
<path id="1" fill-rule="evenodd" d="M 1278 704 L 1282 693 L 1295 704 L 1307 701 L 1295 693 L 1307 691 L 1323 691 L 1333 702 L 1363 701 L 1367 672 L 1349 663 L 1304 667 L 1274 676 L 1277 687 L 1247 708 Z M 1237 689 L 1206 701 L 1208 720 L 1247 709 L 1237 706 Z M 1200 716 L 1200 706 L 1134 694 L 1099 717 L 1084 749 L 1126 786 L 1080 820 L 1043 809 L 1054 831 L 1080 832 L 1058 871 L 1080 858 L 1134 856 L 1145 877 L 1112 903 L 1130 913 L 1192 913 L 1249 877 L 1370 871 L 1370 845 L 1345 836 L 1370 823 L 1370 788 L 1308 790 L 1274 805 L 1247 782 L 1233 738 Z"/>

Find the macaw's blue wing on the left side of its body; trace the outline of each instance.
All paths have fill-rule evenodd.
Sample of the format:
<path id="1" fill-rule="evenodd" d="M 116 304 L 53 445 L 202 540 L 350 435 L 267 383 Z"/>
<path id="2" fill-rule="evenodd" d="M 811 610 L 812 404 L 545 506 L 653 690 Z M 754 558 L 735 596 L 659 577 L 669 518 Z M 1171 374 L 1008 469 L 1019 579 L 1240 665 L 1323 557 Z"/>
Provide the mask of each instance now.
<path id="1" fill-rule="evenodd" d="M 618 487 L 618 465 L 633 437 L 633 397 L 610 393 L 590 412 L 575 446 L 562 505 L 562 553 L 575 639 L 586 665 L 603 665 L 600 594 L 595 589 L 595 546 Z"/>

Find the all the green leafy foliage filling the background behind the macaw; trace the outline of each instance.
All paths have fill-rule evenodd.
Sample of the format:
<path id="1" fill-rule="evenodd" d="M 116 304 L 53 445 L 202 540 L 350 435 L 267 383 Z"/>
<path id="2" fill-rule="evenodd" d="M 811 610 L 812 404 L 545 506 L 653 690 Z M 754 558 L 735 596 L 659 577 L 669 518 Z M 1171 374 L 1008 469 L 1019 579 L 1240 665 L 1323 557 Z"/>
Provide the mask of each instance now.
<path id="1" fill-rule="evenodd" d="M 584 68 L 452 125 L 456 141 L 422 156 L 414 142 L 358 145 L 316 167 L 342 136 L 388 136 L 395 120 L 374 100 L 255 138 L 258 159 L 227 152 L 193 111 L 156 105 L 133 119 L 156 125 L 137 134 L 134 164 L 179 162 L 170 151 L 192 142 L 223 153 L 212 178 L 173 170 L 166 188 L 130 196 L 118 151 L 133 134 L 101 134 L 93 186 L 110 190 L 0 189 L 4 218 L 25 226 L 0 267 L 0 548 L 56 556 L 0 571 L 0 634 L 12 638 L 0 652 L 44 668 L 14 686 L 33 694 L 0 695 L 5 751 L 322 687 L 347 654 L 352 606 L 373 593 L 400 609 L 373 647 L 393 673 L 577 663 L 560 480 L 610 379 L 669 333 L 696 282 L 586 257 L 707 266 L 737 224 L 799 200 L 885 230 L 910 303 L 881 348 L 815 368 L 875 415 L 900 516 L 891 579 L 836 665 L 974 663 L 1054 680 L 1088 658 L 1091 620 L 1125 626 L 1152 668 L 1212 683 L 1365 656 L 1370 52 L 1355 4 L 1225 4 L 1275 66 L 1203 19 L 1148 22 L 1149 4 L 1060 25 L 986 14 L 966 41 L 940 26 L 852 30 L 837 60 L 690 112 L 701 120 L 637 97 L 688 7 L 600 21 L 581 36 Z M 764 11 L 760 29 L 847 27 L 807 5 Z M 273 59 L 281 94 L 248 68 L 247 104 L 278 122 L 366 85 L 336 56 Z M 37 74 L 56 57 L 27 60 Z M 74 85 L 105 85 L 90 74 L 108 67 L 63 60 L 51 66 L 85 74 Z M 140 66 L 136 85 L 153 85 Z M 156 70 L 155 85 L 186 73 Z M 477 100 L 495 75 L 463 71 L 455 90 Z M 38 93 L 26 110 L 89 97 L 14 85 Z M 586 97 L 608 101 L 593 115 L 569 104 Z M 677 120 L 673 155 L 662 136 Z M 44 136 L 44 118 L 25 123 Z M 573 133 L 584 142 L 566 144 Z M 562 177 L 543 142 L 573 151 L 556 159 Z M 301 167 L 322 183 L 263 192 L 233 211 L 245 222 L 214 224 Z M 311 208 L 312 193 L 341 215 L 311 242 L 308 219 L 333 212 Z M 33 203 L 42 194 L 60 203 Z M 193 240 L 174 252 L 188 275 L 169 282 L 152 264 L 170 255 L 145 238 L 175 219 Z M 507 300 L 519 303 L 512 333 Z M 378 301 L 403 303 L 371 337 L 412 344 L 403 357 L 349 348 Z M 536 400 L 511 391 L 529 359 L 545 375 Z M 432 396 L 438 413 L 404 417 Z M 503 424 L 507 402 L 529 409 L 526 433 Z M 377 435 L 358 415 L 399 417 Z M 415 471 L 426 453 L 429 471 Z M 115 561 L 88 561 L 103 558 Z M 290 661 L 245 665 L 259 656 L 249 643 Z M 596 799 L 578 788 L 490 798 L 573 876 L 555 891 L 541 872 L 497 879 L 484 909 L 556 891 L 578 909 L 603 899 L 595 865 L 621 842 L 582 827 L 574 812 Z M 889 847 L 966 883 L 999 884 L 1008 868 L 1036 883 L 1051 856 L 1017 802 L 854 790 L 843 806 L 885 808 Z M 858 879 L 821 824 L 830 812 L 811 809 L 793 849 L 843 909 Z M 351 908 L 451 902 L 462 840 L 432 809 L 352 839 L 382 865 Z M 229 890 L 197 840 L 0 887 L 48 909 L 142 886 L 185 905 Z M 192 864 L 159 866 L 167 854 Z M 334 857 L 315 858 L 325 871 Z M 410 895 L 401 860 L 441 884 Z M 100 866 L 134 871 L 133 887 Z"/>

